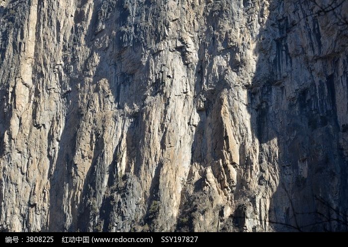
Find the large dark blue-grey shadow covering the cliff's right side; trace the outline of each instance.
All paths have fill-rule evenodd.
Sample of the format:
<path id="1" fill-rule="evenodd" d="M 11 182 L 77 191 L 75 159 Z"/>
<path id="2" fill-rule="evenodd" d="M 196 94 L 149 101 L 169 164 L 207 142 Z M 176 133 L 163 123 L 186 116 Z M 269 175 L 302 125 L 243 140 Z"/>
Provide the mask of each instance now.
<path id="1" fill-rule="evenodd" d="M 284 13 L 291 4 L 299 15 Z M 278 164 L 270 164 L 278 166 L 279 181 L 271 197 L 269 224 L 276 231 L 347 231 L 348 166 L 336 106 L 338 60 L 322 52 L 321 40 L 329 37 L 321 36 L 320 17 L 292 19 L 309 9 L 307 1 L 272 1 L 258 35 L 259 61 L 249 89 L 249 111 L 260 154 L 262 144 L 276 138 L 278 145 Z M 303 22 L 309 28 L 301 37 Z M 312 51 L 291 54 L 289 44 L 303 37 Z M 334 67 L 323 71 L 317 83 L 309 67 L 315 58 Z M 260 164 L 264 158 L 268 159 L 260 157 Z"/>

